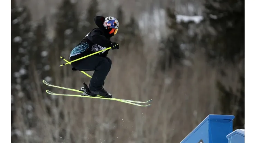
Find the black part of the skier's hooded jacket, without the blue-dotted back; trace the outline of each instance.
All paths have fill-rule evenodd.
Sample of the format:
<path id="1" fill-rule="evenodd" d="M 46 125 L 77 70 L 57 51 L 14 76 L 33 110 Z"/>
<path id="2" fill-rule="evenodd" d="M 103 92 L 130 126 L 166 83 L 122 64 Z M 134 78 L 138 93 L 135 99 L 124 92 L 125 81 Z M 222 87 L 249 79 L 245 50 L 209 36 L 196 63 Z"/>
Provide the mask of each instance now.
<path id="1" fill-rule="evenodd" d="M 94 22 L 98 26 L 98 28 L 94 28 L 78 44 L 78 45 L 80 45 L 80 44 L 84 44 L 84 43 L 87 42 L 89 44 L 89 48 L 81 54 L 70 57 L 71 61 L 73 61 L 77 58 L 81 58 L 81 57 L 84 57 L 86 55 L 104 50 L 104 49 L 111 46 L 112 42 L 110 41 L 110 37 L 112 37 L 113 34 L 109 34 L 108 29 L 106 29 L 103 26 L 104 20 L 105 20 L 105 18 L 102 17 L 102 16 L 96 16 L 94 18 Z M 95 55 L 106 57 L 107 54 L 108 54 L 108 51 L 109 50 L 106 50 L 106 51 L 103 51 L 103 52 L 95 54 Z"/>

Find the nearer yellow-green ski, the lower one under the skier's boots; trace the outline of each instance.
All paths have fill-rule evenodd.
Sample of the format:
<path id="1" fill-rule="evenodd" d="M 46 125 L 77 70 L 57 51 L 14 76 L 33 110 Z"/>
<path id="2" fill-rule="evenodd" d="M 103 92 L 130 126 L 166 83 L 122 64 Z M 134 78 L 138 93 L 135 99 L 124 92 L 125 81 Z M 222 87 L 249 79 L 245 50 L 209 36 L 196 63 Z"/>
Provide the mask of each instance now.
<path id="1" fill-rule="evenodd" d="M 56 94 L 56 93 L 53 93 L 52 91 L 49 91 L 49 90 L 46 90 L 46 93 L 50 94 L 50 95 L 72 96 L 72 97 L 87 97 L 87 98 L 98 98 L 98 99 L 116 100 L 116 101 L 132 104 L 132 105 L 136 105 L 136 106 L 140 106 L 140 107 L 148 107 L 148 106 L 151 105 L 151 104 L 141 105 L 141 104 L 136 104 L 136 103 L 132 103 L 132 102 L 124 101 L 122 99 L 116 99 L 116 98 L 92 97 L 92 96 L 81 96 L 81 95 L 72 95 L 72 94 Z"/>

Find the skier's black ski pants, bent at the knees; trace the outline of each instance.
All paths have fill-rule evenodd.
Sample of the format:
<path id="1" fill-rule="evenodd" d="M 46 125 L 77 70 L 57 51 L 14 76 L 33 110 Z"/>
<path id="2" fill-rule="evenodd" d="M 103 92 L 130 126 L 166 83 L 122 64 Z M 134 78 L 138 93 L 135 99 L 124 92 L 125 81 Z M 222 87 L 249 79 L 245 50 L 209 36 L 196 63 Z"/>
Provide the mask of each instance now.
<path id="1" fill-rule="evenodd" d="M 72 67 L 80 71 L 93 71 L 89 89 L 97 90 L 104 85 L 104 80 L 111 68 L 112 61 L 108 57 L 89 56 L 79 61 L 71 63 Z"/>

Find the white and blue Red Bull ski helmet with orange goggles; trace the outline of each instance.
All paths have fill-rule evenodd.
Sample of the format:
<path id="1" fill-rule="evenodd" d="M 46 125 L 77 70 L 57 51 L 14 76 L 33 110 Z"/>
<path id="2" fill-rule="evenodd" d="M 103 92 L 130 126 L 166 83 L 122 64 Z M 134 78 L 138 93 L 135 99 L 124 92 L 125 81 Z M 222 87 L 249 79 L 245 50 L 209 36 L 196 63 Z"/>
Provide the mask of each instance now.
<path id="1" fill-rule="evenodd" d="M 103 26 L 109 29 L 109 34 L 117 34 L 119 23 L 114 17 L 106 17 Z"/>

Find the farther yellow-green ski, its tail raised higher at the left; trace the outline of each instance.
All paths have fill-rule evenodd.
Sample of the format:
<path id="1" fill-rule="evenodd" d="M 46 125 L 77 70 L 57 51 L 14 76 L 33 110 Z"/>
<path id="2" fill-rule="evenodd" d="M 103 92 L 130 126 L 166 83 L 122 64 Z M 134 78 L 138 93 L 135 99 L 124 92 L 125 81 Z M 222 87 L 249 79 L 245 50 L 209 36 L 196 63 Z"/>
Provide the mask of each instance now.
<path id="1" fill-rule="evenodd" d="M 56 87 L 56 88 L 61 88 L 61 89 L 66 89 L 66 90 L 71 90 L 71 91 L 75 91 L 75 92 L 80 92 L 80 93 L 83 93 L 83 91 L 80 91 L 80 90 L 77 90 L 77 89 L 72 89 L 72 88 L 66 88 L 66 87 L 61 87 L 61 86 L 55 86 L 55 85 L 51 85 L 49 83 L 47 83 L 45 80 L 43 80 L 43 83 L 47 86 L 52 86 L 52 87 Z M 48 90 L 49 91 L 49 90 Z M 51 92 L 51 91 L 50 91 Z M 47 92 L 48 93 L 48 92 Z M 53 92 L 51 92 L 53 93 Z M 49 94 L 49 93 L 48 93 Z M 63 94 L 62 94 L 63 95 Z M 80 95 L 82 96 L 82 95 Z M 84 96 L 82 96 L 84 97 Z M 90 97 L 90 98 L 94 98 L 92 96 L 85 96 L 85 97 Z M 102 97 L 97 97 L 97 98 L 102 98 Z M 152 101 L 152 99 L 146 101 L 146 102 L 143 102 L 143 101 L 134 101 L 134 100 L 126 100 L 126 99 L 117 99 L 117 98 L 103 98 L 103 99 L 111 99 L 111 100 L 116 100 L 116 101 L 125 101 L 125 102 L 132 102 L 132 103 L 149 103 Z M 150 104 L 151 105 L 151 104 Z"/>

